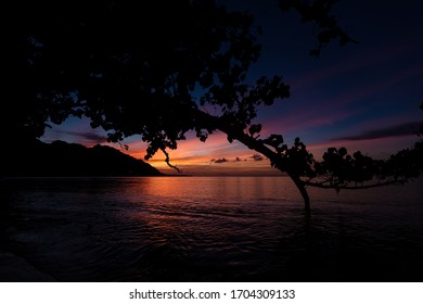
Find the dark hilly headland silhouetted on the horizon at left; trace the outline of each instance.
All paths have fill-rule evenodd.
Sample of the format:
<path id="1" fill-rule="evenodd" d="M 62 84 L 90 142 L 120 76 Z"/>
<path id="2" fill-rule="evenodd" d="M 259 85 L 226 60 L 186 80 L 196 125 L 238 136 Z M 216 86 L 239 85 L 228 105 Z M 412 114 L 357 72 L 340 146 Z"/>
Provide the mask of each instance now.
<path id="1" fill-rule="evenodd" d="M 2 176 L 164 176 L 150 164 L 112 147 L 39 140 L 10 147 L 2 156 Z"/>

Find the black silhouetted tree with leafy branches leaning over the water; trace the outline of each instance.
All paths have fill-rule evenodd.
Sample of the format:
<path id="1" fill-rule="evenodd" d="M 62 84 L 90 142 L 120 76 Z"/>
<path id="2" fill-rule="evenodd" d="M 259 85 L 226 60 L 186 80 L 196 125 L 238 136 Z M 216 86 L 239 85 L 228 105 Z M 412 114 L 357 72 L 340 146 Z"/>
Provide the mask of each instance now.
<path id="1" fill-rule="evenodd" d="M 318 26 L 313 55 L 333 39 L 354 41 L 331 15 L 334 2 L 279 1 Z M 41 136 L 48 122 L 86 115 L 92 127 L 108 131 L 110 141 L 141 135 L 145 159 L 162 151 L 174 167 L 168 150 L 188 131 L 205 141 L 220 130 L 286 173 L 307 208 L 306 186 L 356 189 L 374 175 L 376 185 L 386 185 L 421 173 L 421 163 L 406 162 L 421 144 L 386 162 L 349 156 L 345 149 L 330 149 L 316 162 L 299 139 L 291 148 L 281 135 L 259 139 L 261 126 L 252 124 L 257 107 L 289 98 L 290 87 L 278 75 L 245 81 L 260 55 L 259 29 L 246 12 L 213 0 L 13 1 L 8 9 L 16 29 L 3 40 L 13 94 L 2 119 L 13 122 L 11 141 Z"/>

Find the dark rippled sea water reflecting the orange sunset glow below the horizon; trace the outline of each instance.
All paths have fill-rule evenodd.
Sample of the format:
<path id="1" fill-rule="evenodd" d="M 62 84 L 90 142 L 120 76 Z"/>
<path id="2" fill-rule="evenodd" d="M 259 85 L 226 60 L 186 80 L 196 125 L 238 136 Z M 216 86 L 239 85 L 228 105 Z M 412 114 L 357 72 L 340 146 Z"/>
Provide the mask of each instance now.
<path id="1" fill-rule="evenodd" d="M 59 281 L 423 281 L 422 180 L 310 214 L 286 177 L 2 182 L 2 241 Z"/>

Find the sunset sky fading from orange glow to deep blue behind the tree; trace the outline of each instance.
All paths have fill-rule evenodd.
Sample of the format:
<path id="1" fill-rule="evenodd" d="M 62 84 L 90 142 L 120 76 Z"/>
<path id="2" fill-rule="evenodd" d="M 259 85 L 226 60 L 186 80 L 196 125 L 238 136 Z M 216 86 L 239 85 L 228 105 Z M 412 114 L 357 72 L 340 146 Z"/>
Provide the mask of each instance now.
<path id="1" fill-rule="evenodd" d="M 291 86 L 290 99 L 259 110 L 255 123 L 262 125 L 262 137 L 281 134 L 289 144 L 299 137 L 317 159 L 329 147 L 385 159 L 416 141 L 413 131 L 423 121 L 423 1 L 341 1 L 341 25 L 359 43 L 333 43 L 319 59 L 308 55 L 311 26 L 281 12 L 275 0 L 219 2 L 253 12 L 262 27 L 262 54 L 249 79 L 278 74 Z M 107 144 L 102 129 L 79 118 L 48 129 L 41 139 Z M 129 145 L 125 153 L 145 154 L 139 137 L 123 143 Z M 205 143 L 189 136 L 169 152 L 184 174 L 278 174 L 266 159 L 219 132 Z M 157 154 L 149 163 L 168 173 L 163 160 Z"/>

